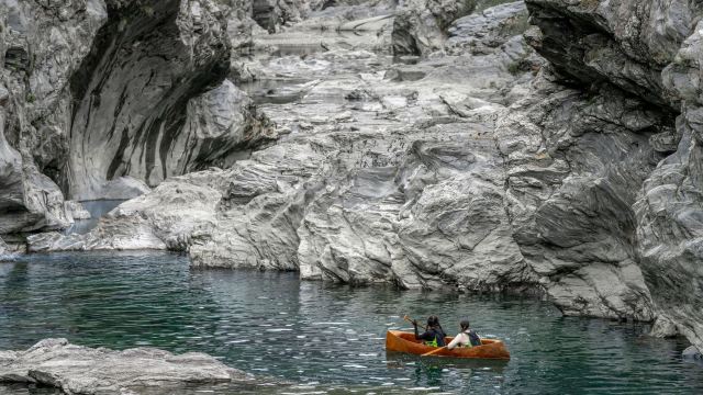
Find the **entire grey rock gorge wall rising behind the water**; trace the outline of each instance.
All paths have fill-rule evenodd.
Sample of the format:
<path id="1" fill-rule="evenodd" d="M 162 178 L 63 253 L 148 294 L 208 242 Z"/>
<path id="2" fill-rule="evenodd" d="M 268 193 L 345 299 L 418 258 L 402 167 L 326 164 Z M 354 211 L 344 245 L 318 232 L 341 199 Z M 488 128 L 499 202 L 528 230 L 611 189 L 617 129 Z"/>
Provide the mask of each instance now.
<path id="1" fill-rule="evenodd" d="M 483 3 L 2 0 L 0 234 L 132 177 L 30 249 L 535 293 L 703 349 L 701 5 Z"/>

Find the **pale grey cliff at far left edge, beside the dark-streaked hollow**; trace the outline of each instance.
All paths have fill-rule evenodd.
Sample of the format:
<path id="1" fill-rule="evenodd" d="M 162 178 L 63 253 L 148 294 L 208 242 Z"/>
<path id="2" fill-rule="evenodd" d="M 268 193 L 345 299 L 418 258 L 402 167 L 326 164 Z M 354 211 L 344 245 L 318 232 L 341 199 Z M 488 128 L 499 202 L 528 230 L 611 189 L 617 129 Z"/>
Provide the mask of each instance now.
<path id="1" fill-rule="evenodd" d="M 55 183 L 67 160 L 69 79 L 105 18 L 101 0 L 0 2 L 0 234 L 71 223 Z"/>

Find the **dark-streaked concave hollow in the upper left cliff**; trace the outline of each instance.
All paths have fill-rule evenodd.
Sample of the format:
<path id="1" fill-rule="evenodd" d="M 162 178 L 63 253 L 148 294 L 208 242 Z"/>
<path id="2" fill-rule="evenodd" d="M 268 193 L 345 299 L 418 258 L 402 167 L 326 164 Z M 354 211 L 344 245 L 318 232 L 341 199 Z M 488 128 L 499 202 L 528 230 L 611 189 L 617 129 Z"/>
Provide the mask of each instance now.
<path id="1" fill-rule="evenodd" d="M 214 1 L 109 3 L 108 23 L 72 77 L 74 199 L 101 198 L 100 185 L 121 176 L 156 185 L 178 174 L 169 157 L 187 155 L 179 138 L 196 138 L 181 136 L 188 103 L 228 69 L 226 11 Z"/>

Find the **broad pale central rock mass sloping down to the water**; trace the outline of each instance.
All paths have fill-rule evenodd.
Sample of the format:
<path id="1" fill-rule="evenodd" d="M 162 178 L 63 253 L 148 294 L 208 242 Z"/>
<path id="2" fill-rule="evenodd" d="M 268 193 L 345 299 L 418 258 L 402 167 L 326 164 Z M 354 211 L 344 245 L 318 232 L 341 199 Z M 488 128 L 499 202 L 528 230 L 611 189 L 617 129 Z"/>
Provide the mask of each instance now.
<path id="1" fill-rule="evenodd" d="M 521 15 L 506 8 L 482 18 Z M 201 268 L 545 293 L 566 314 L 651 320 L 629 205 L 656 165 L 647 133 L 668 113 L 612 88 L 593 100 L 546 71 L 533 83 L 532 67 L 510 68 L 540 66 L 525 41 L 491 34 L 500 45 L 411 66 L 361 48 L 264 63 L 266 75 L 310 80 L 279 88 L 294 104 L 260 105 L 276 144 L 168 180 L 88 235 L 30 245 L 148 246 L 187 250 Z M 391 67 L 424 78 L 384 78 Z"/>

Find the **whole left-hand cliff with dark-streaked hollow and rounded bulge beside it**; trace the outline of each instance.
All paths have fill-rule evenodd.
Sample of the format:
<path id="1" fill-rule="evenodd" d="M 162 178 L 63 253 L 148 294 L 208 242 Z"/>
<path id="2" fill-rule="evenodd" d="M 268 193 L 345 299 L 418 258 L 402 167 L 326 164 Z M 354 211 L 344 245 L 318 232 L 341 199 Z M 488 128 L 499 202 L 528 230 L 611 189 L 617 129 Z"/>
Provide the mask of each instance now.
<path id="1" fill-rule="evenodd" d="M 224 80 L 250 34 L 242 10 L 0 1 L 0 234 L 66 228 L 65 199 L 131 199 L 275 138 Z"/>

